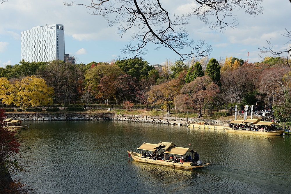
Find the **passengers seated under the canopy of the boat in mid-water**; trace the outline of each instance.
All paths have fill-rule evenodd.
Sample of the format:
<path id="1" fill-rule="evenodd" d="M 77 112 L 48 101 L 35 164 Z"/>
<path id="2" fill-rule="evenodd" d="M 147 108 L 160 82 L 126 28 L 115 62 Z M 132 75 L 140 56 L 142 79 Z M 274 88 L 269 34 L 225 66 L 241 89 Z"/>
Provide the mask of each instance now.
<path id="1" fill-rule="evenodd" d="M 184 156 L 180 156 L 180 158 L 177 158 L 177 156 L 169 156 L 168 153 L 163 153 L 161 152 L 161 154 L 157 154 L 157 151 L 154 151 L 152 154 L 149 154 L 149 153 L 144 153 L 142 155 L 143 157 L 148 157 L 152 160 L 164 160 L 164 161 L 173 161 L 174 163 L 177 163 L 177 162 L 197 162 L 199 160 L 199 154 L 197 154 L 197 152 L 195 152 L 194 154 L 194 158 L 192 160 L 191 156 L 186 156 L 184 158 Z"/>

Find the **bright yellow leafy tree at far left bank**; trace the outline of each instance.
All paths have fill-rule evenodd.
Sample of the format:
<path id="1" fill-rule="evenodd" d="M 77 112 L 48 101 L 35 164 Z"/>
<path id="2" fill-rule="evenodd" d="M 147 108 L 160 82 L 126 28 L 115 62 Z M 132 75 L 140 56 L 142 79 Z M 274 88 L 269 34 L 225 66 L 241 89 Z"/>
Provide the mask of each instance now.
<path id="1" fill-rule="evenodd" d="M 8 105 L 37 107 L 53 103 L 54 89 L 47 87 L 45 80 L 38 76 L 24 77 L 22 80 L 8 81 L 0 78 L 0 98 Z"/>

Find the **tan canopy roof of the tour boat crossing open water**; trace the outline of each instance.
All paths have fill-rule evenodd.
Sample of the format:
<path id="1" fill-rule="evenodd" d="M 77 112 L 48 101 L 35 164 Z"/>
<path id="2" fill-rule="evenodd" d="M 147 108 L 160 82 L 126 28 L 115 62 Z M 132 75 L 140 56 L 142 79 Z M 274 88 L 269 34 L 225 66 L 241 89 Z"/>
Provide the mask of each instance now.
<path id="1" fill-rule="evenodd" d="M 168 154 L 177 154 L 177 155 L 185 155 L 187 152 L 195 153 L 190 148 L 186 147 L 179 147 L 172 142 L 159 142 L 158 144 L 150 144 L 150 143 L 143 143 L 139 148 L 141 150 L 149 150 L 149 151 L 156 151 L 159 149 L 163 149 L 164 153 Z"/>

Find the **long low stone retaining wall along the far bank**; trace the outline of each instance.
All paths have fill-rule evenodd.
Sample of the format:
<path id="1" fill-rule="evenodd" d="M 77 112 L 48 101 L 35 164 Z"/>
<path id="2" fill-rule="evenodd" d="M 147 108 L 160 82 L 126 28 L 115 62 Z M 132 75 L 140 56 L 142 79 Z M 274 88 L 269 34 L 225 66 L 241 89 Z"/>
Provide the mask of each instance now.
<path id="1" fill-rule="evenodd" d="M 7 118 L 20 119 L 22 121 L 64 121 L 64 120 L 118 120 L 135 121 L 147 123 L 161 123 L 172 125 L 208 124 L 227 126 L 230 120 L 194 119 L 182 117 L 165 116 L 141 116 L 141 115 L 121 115 L 112 113 L 88 114 L 88 113 L 6 113 Z"/>

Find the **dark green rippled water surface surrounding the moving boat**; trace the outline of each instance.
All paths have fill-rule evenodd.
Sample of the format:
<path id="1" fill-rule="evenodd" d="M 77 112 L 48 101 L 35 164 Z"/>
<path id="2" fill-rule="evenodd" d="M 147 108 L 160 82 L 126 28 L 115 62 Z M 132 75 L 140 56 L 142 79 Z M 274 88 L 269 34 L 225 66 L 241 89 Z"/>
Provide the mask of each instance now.
<path id="1" fill-rule="evenodd" d="M 23 134 L 22 180 L 42 193 L 288 193 L 289 136 L 252 136 L 124 121 L 34 122 Z M 128 158 L 143 142 L 173 142 L 211 165 L 193 171 Z"/>

